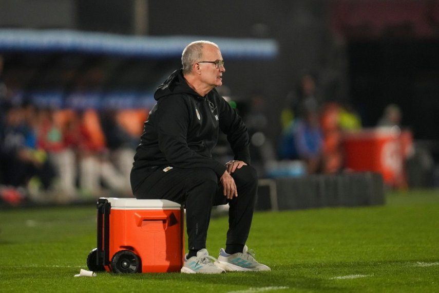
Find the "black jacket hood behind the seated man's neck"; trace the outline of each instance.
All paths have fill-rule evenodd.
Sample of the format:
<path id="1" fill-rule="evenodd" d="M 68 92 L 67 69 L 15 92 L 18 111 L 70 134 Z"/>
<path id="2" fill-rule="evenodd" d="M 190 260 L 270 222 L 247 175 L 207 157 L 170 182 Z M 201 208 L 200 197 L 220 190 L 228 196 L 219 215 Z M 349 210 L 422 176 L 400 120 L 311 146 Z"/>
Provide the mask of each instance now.
<path id="1" fill-rule="evenodd" d="M 165 96 L 175 94 L 189 94 L 199 96 L 195 90 L 190 88 L 183 77 L 183 70 L 175 70 L 156 90 L 154 99 L 157 101 Z"/>

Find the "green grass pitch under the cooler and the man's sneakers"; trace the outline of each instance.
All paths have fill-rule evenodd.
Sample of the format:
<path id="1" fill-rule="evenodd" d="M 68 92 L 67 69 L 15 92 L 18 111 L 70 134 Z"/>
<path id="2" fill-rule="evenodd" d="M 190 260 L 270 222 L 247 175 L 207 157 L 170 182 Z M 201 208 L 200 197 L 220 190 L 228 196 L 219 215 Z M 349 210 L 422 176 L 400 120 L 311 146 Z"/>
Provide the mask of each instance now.
<path id="1" fill-rule="evenodd" d="M 212 219 L 207 249 L 224 245 Z M 96 208 L 0 211 L 0 291 L 438 292 L 439 191 L 390 193 L 378 207 L 258 212 L 249 241 L 271 272 L 73 278 L 96 247 Z"/>

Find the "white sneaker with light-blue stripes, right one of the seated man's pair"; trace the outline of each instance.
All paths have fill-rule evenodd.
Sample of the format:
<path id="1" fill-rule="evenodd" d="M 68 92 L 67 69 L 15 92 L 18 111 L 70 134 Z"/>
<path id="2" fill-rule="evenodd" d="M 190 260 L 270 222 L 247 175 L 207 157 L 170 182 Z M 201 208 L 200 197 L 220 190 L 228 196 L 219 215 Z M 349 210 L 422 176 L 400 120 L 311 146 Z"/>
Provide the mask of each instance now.
<path id="1" fill-rule="evenodd" d="M 271 270 L 266 265 L 260 264 L 255 260 L 255 252 L 244 245 L 242 252 L 227 254 L 221 248 L 218 257 L 220 266 L 226 271 L 267 271 Z"/>

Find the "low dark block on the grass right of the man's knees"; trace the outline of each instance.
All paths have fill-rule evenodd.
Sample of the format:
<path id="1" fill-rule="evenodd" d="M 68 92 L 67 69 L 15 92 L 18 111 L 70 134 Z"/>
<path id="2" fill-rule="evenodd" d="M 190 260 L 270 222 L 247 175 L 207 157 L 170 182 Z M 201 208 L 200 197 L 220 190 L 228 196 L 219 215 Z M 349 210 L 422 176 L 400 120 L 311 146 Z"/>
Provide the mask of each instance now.
<path id="1" fill-rule="evenodd" d="M 378 173 L 310 175 L 261 179 L 257 210 L 383 205 L 384 182 Z"/>

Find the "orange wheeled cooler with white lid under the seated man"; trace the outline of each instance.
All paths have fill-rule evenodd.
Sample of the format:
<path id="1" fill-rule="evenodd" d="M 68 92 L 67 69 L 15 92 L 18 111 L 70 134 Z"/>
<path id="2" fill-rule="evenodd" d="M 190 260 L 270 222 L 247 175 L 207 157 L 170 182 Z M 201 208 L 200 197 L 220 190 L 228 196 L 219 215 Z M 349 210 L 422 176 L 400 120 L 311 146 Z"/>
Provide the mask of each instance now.
<path id="1" fill-rule="evenodd" d="M 99 198 L 98 248 L 87 265 L 122 273 L 180 271 L 183 221 L 182 206 L 170 200 Z"/>

